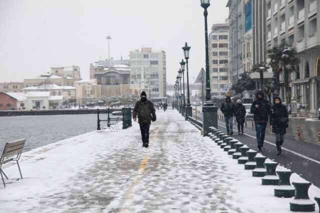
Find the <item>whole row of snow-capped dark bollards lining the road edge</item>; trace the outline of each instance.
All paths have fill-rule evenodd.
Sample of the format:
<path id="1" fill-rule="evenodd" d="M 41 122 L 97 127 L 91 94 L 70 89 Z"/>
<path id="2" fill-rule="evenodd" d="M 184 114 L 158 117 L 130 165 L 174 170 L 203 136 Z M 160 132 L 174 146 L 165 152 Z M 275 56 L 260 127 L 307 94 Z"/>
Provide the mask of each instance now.
<path id="1" fill-rule="evenodd" d="M 315 203 L 308 196 L 308 188 L 311 185 L 309 181 L 293 181 L 292 186 L 290 184 L 291 170 L 275 171 L 277 162 L 265 161 L 265 156 L 258 154 L 255 150 L 250 149 L 237 139 L 229 137 L 215 127 L 209 127 L 209 131 L 208 136 L 228 155 L 232 155 L 232 159 L 237 159 L 238 164 L 244 164 L 244 169 L 252 170 L 252 176 L 261 177 L 262 185 L 276 185 L 274 196 L 294 196 L 294 199 L 289 202 L 291 211 L 307 212 L 315 210 Z M 320 209 L 320 197 L 314 197 L 314 200 Z"/>

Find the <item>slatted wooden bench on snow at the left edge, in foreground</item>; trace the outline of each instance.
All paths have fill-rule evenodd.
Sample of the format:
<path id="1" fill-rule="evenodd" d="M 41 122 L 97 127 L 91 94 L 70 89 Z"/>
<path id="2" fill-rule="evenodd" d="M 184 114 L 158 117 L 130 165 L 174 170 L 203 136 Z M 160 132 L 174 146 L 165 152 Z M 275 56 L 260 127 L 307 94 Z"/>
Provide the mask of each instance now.
<path id="1" fill-rule="evenodd" d="M 25 143 L 25 139 L 19 139 L 19 140 L 15 140 L 15 141 L 11 141 L 11 142 L 6 142 L 4 145 L 4 149 L 3 149 L 3 152 L 2 152 L 2 155 L 0 158 L 0 174 L 1 174 L 1 179 L 2 179 L 4 187 L 5 187 L 5 183 L 4 183 L 3 175 L 5 176 L 6 179 L 8 179 L 8 177 L 5 175 L 5 173 L 3 172 L 1 167 L 3 164 L 5 164 L 7 162 L 10 162 L 12 160 L 16 161 L 18 168 L 19 168 L 20 176 L 22 179 L 22 174 L 21 174 L 18 160 L 21 156 L 21 152 L 22 152 L 24 143 Z"/>

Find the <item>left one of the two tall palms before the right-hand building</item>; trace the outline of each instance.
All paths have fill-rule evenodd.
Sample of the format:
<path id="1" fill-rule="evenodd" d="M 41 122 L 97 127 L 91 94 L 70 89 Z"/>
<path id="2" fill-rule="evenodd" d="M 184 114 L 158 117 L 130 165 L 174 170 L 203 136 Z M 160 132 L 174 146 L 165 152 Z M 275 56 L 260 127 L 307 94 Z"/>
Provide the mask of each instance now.
<path id="1" fill-rule="evenodd" d="M 281 71 L 281 55 L 282 50 L 281 47 L 276 45 L 272 46 L 271 49 L 267 50 L 267 57 L 270 59 L 268 65 L 271 66 L 273 72 L 273 84 L 275 85 L 274 93 L 279 94 L 279 84 L 280 84 L 280 71 Z"/>

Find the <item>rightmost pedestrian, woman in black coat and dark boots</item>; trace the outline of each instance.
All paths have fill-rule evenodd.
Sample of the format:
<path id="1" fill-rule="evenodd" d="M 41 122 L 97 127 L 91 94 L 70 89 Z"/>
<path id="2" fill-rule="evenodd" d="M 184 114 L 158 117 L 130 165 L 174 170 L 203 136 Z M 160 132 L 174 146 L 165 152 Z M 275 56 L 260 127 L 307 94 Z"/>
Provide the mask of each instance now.
<path id="1" fill-rule="evenodd" d="M 278 151 L 276 155 L 279 155 L 281 154 L 281 146 L 284 141 L 284 134 L 286 133 L 285 129 L 289 126 L 289 117 L 286 107 L 281 103 L 280 97 L 274 97 L 272 109 L 270 125 L 272 126 L 272 132 L 275 134 L 275 145 Z"/>

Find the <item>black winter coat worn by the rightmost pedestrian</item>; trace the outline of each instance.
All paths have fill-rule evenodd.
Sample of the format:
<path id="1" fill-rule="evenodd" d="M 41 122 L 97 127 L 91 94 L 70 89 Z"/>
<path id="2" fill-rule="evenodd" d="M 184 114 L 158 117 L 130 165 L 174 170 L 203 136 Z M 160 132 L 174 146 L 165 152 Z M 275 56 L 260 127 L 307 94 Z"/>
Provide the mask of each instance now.
<path id="1" fill-rule="evenodd" d="M 289 117 L 286 107 L 281 103 L 273 105 L 273 112 L 270 117 L 270 125 L 272 125 L 272 132 L 277 134 L 285 134 L 288 127 Z"/>

